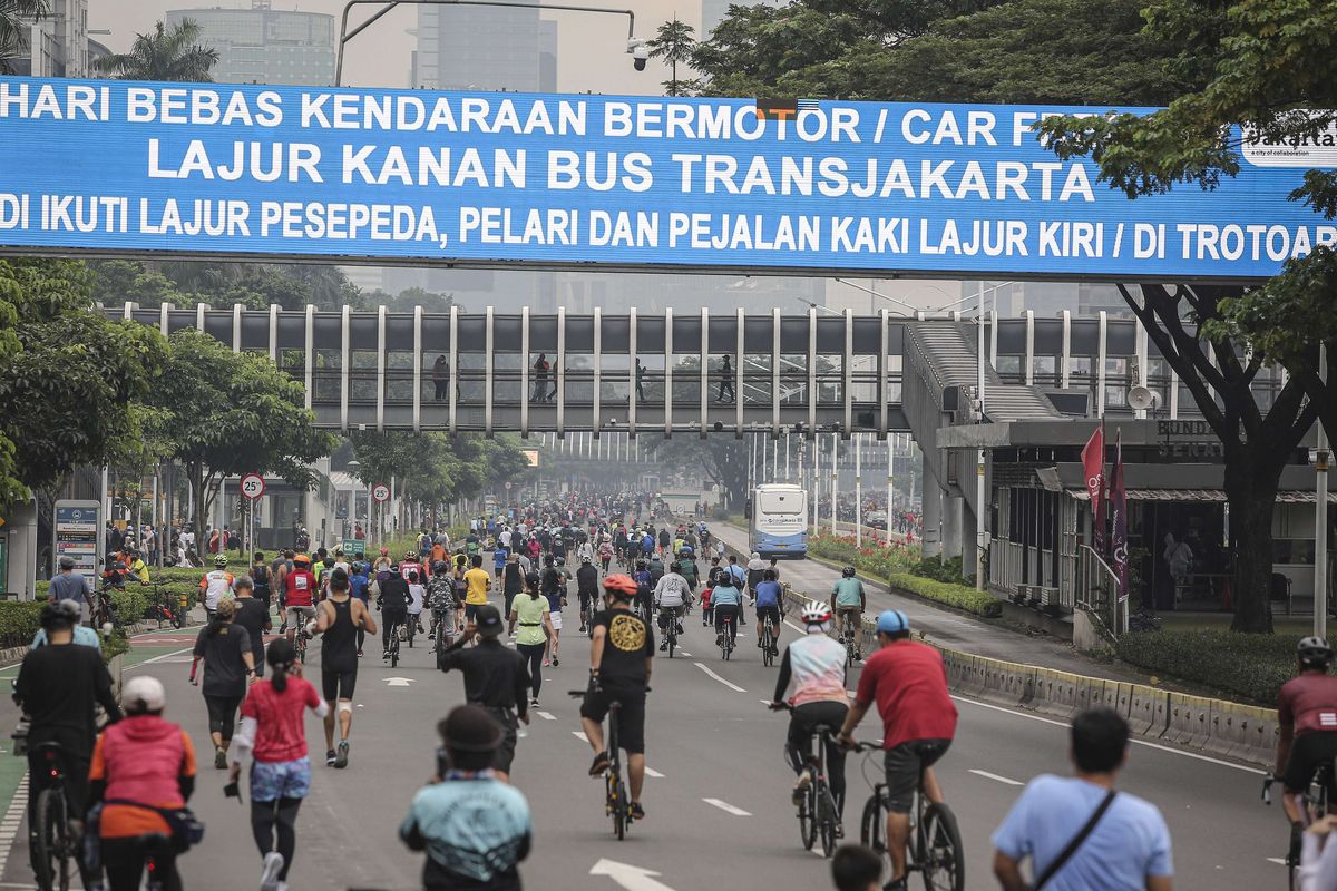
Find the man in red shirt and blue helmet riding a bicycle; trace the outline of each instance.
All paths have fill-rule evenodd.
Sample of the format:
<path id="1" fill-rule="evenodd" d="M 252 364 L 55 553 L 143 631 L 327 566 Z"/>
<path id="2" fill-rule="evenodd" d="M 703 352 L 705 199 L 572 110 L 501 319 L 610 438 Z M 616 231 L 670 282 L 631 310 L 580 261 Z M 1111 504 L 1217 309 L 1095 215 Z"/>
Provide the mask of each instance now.
<path id="1" fill-rule="evenodd" d="M 910 640 L 910 622 L 898 609 L 877 617 L 880 649 L 864 663 L 854 705 L 845 716 L 840 743 L 853 745 L 850 735 L 876 701 L 882 719 L 886 769 L 886 850 L 892 856 L 889 891 L 905 888 L 905 842 L 910 832 L 910 803 L 924 776 L 924 793 L 943 800 L 933 763 L 947 752 L 956 735 L 956 705 L 947 692 L 943 655 L 928 644 Z"/>

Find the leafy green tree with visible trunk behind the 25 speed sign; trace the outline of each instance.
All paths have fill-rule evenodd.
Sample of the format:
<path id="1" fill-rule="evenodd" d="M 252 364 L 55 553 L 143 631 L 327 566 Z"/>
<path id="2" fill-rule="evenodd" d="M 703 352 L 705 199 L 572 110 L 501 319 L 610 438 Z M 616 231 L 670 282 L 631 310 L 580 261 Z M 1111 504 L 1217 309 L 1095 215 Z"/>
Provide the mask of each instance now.
<path id="1" fill-rule="evenodd" d="M 148 403 L 159 410 L 155 433 L 185 466 L 198 541 L 223 478 L 255 472 L 294 486 L 314 482 L 310 464 L 338 441 L 312 426 L 301 383 L 269 357 L 233 353 L 194 329 L 175 331 L 168 346 Z"/>

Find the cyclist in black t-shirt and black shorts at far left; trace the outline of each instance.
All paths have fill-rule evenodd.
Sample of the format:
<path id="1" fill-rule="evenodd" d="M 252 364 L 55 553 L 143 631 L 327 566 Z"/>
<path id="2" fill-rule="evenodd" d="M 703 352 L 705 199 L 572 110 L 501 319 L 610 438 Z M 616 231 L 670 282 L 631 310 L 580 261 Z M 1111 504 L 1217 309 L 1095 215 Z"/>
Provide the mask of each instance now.
<path id="1" fill-rule="evenodd" d="M 41 608 L 45 647 L 23 657 L 13 699 L 31 717 L 28 728 L 28 851 L 37 862 L 37 793 L 51 781 L 43 753 L 44 743 L 60 747 L 70 819 L 82 824 L 88 800 L 88 765 L 92 761 L 94 707 L 102 705 L 110 721 L 120 720 L 120 707 L 111 692 L 111 675 L 102 653 L 74 643 L 79 610 L 68 600 Z"/>

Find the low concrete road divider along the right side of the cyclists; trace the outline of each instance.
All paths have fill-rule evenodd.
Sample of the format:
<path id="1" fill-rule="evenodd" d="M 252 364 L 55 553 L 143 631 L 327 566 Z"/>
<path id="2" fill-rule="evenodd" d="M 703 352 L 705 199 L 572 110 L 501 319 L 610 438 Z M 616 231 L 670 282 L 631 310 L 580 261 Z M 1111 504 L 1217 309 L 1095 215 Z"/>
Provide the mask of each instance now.
<path id="1" fill-rule="evenodd" d="M 809 602 L 802 592 L 792 589 L 786 590 L 786 600 L 792 613 Z M 877 649 L 872 620 L 864 620 L 860 639 L 868 659 Z M 1273 709 L 972 656 L 945 647 L 937 649 L 947 667 L 948 687 L 964 696 L 1059 719 L 1104 707 L 1122 715 L 1132 732 L 1144 739 L 1265 767 L 1271 767 L 1275 756 L 1278 728 Z"/>

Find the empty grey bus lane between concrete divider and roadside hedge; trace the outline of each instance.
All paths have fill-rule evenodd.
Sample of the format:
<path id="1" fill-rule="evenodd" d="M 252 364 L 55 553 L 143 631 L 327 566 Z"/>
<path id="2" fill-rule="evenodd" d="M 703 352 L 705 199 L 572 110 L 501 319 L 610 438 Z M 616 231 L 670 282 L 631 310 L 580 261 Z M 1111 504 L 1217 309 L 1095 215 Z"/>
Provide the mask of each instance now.
<path id="1" fill-rule="evenodd" d="M 725 545 L 746 553 L 747 533 L 729 524 L 711 524 L 711 532 L 723 538 Z M 810 597 L 829 597 L 832 585 L 840 578 L 840 569 L 818 560 L 785 560 L 779 562 L 781 581 L 806 592 Z M 923 631 L 929 640 L 943 647 L 972 656 L 1003 659 L 1009 663 L 1023 663 L 1054 668 L 1058 671 L 1100 677 L 1104 680 L 1146 683 L 1146 675 L 1136 673 L 1131 667 L 1111 664 L 1078 652 L 1071 644 L 1043 633 L 1027 633 L 1012 625 L 984 621 L 939 609 L 916 597 L 906 597 L 890 590 L 885 584 L 862 578 L 868 588 L 869 612 L 900 609 L 910 620 L 910 628 Z M 750 628 L 750 625 L 749 625 Z"/>

